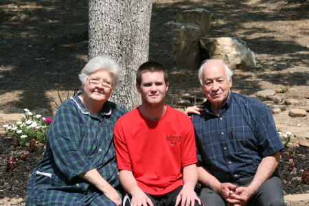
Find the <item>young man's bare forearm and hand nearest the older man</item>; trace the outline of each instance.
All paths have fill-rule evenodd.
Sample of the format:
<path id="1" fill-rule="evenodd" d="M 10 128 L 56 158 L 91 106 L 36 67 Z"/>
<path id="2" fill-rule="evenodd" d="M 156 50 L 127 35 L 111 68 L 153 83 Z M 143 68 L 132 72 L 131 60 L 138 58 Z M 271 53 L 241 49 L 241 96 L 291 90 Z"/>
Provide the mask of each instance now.
<path id="1" fill-rule="evenodd" d="M 194 187 L 198 181 L 198 171 L 196 169 L 196 164 L 187 165 L 183 168 L 183 190 L 179 193 L 176 198 L 175 206 L 194 206 L 195 201 L 198 201 L 198 204 L 201 205 L 201 200 L 198 198 L 194 192 Z"/>

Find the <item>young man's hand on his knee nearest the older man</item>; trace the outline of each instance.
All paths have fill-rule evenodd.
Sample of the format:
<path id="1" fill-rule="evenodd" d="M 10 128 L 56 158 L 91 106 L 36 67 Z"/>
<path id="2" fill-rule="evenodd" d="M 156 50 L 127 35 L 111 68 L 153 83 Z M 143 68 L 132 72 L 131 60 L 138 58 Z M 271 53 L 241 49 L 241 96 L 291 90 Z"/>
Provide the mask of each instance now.
<path id="1" fill-rule="evenodd" d="M 198 201 L 199 205 L 202 205 L 201 200 L 198 198 L 196 193 L 194 192 L 194 188 L 183 186 L 181 192 L 176 198 L 175 206 L 179 205 L 181 202 L 181 206 L 194 206 L 195 201 Z"/>

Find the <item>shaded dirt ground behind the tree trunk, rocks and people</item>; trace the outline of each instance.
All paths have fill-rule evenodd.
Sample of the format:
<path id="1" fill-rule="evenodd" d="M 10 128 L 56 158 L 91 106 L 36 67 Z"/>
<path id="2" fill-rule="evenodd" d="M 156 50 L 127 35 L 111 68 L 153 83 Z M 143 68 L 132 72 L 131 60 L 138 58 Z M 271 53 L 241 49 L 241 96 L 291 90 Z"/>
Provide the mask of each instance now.
<path id="1" fill-rule="evenodd" d="M 203 97 L 197 71 L 172 68 L 170 62 L 174 17 L 196 8 L 211 12 L 211 35 L 237 36 L 255 53 L 255 69 L 234 71 L 233 91 L 255 97 L 260 90 L 287 89 L 280 94 L 283 98 L 306 105 L 308 0 L 154 0 L 149 59 L 168 68 L 167 102 L 180 91 Z M 80 84 L 78 73 L 88 60 L 88 1 L 1 0 L 0 21 L 0 134 L 4 141 L 2 125 L 19 120 L 24 108 L 53 117 L 53 102 L 60 103 L 57 91 L 63 99 Z M 308 115 L 290 117 L 286 111 L 274 118 L 286 129 L 308 132 Z M 21 192 L 19 198 L 24 196 Z M 10 203 L 13 197 L 8 197 Z"/>

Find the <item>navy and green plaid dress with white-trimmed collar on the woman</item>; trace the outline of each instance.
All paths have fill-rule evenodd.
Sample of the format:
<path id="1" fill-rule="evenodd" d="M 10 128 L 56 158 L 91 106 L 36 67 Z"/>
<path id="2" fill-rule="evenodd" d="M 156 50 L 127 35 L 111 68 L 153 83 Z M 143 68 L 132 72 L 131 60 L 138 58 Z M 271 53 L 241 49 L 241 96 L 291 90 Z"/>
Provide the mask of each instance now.
<path id="1" fill-rule="evenodd" d="M 100 117 L 78 96 L 63 102 L 47 132 L 47 148 L 28 181 L 26 205 L 115 205 L 78 174 L 96 168 L 119 185 L 113 128 L 126 109 L 106 101 Z"/>

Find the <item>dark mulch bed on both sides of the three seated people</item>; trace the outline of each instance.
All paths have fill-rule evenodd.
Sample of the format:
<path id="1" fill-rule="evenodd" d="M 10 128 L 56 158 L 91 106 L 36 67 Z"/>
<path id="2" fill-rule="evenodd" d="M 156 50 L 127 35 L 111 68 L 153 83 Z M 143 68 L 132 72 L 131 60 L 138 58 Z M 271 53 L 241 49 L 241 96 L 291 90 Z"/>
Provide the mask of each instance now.
<path id="1" fill-rule="evenodd" d="M 14 147 L 12 137 L 0 136 L 0 199 L 1 198 L 25 198 L 27 192 L 27 179 L 30 173 L 41 161 L 44 153 L 44 145 L 38 146 L 36 152 L 30 152 L 27 160 L 21 160 L 21 153 L 28 152 L 27 148 Z M 288 153 L 292 156 L 297 168 L 295 174 L 288 171 L 289 159 Z M 5 165 L 5 157 L 15 157 L 19 159 L 16 162 L 16 169 L 8 171 Z M 289 158 L 290 158 L 289 157 Z M 301 180 L 304 170 L 309 169 L 309 148 L 290 148 L 282 150 L 282 160 L 279 163 L 279 169 L 282 174 L 282 186 L 284 194 L 304 194 L 309 193 L 309 183 L 304 184 Z"/>

